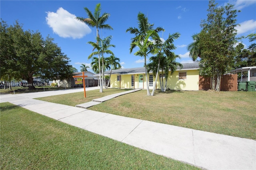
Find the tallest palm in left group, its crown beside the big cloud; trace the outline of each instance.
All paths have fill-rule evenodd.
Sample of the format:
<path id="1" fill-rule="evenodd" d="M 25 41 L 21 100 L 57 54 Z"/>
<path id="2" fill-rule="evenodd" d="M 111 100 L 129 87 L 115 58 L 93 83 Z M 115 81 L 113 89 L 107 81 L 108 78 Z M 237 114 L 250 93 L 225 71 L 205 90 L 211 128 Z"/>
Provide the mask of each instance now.
<path id="1" fill-rule="evenodd" d="M 88 18 L 76 17 L 76 20 L 84 22 L 91 27 L 96 27 L 97 38 L 100 37 L 99 29 L 113 29 L 110 25 L 104 24 L 108 20 L 108 17 L 110 16 L 110 14 L 104 12 L 104 14 L 102 14 L 102 16 L 100 16 L 100 12 L 101 12 L 100 4 L 96 4 L 93 14 L 86 7 L 84 8 L 84 10 L 85 10 L 86 14 L 88 15 Z M 98 44 L 98 39 L 97 39 L 97 44 Z M 100 53 L 98 54 L 98 61 L 100 63 Z M 99 70 L 100 70 L 100 64 L 99 64 Z M 101 87 L 101 82 L 100 82 L 100 87 Z M 102 89 L 103 88 L 100 88 L 100 92 L 102 92 Z"/>

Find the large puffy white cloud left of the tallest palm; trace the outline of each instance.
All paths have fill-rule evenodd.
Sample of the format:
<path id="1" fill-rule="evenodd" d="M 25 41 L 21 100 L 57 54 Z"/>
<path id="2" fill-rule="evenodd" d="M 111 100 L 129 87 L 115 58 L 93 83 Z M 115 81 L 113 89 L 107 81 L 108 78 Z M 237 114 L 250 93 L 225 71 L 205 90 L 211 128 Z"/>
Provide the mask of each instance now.
<path id="1" fill-rule="evenodd" d="M 78 20 L 74 14 L 70 14 L 63 8 L 59 8 L 55 12 L 46 12 L 46 21 L 49 27 L 52 28 L 53 32 L 58 34 L 60 37 L 73 39 L 82 38 L 84 35 L 90 33 L 92 30 Z"/>

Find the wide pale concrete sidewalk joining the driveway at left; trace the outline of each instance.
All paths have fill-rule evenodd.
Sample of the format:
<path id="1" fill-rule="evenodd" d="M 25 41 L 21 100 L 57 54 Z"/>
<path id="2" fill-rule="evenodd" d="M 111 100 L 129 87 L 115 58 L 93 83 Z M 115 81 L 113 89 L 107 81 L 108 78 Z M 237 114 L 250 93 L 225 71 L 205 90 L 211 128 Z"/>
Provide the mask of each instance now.
<path id="1" fill-rule="evenodd" d="M 52 91 L 48 94 L 52 96 L 73 92 L 60 91 L 62 92 Z M 211 170 L 256 169 L 255 140 L 33 99 L 48 95 L 46 92 L 39 93 L 41 92 L 1 95 L 0 102 L 10 102 L 64 123 L 198 167 Z"/>

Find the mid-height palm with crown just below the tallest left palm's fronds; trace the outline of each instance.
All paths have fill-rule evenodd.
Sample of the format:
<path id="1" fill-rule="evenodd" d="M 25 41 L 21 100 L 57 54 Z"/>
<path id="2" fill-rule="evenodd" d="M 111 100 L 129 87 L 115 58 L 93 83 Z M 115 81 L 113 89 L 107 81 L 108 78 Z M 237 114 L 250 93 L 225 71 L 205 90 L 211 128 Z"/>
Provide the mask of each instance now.
<path id="1" fill-rule="evenodd" d="M 110 35 L 110 36 L 104 38 L 103 40 L 101 38 L 97 37 L 98 43 L 94 43 L 92 41 L 88 42 L 90 45 L 92 45 L 92 47 L 94 47 L 95 49 L 98 50 L 98 51 L 91 53 L 88 58 L 91 58 L 94 55 L 101 55 L 101 57 L 102 57 L 102 70 L 101 70 L 102 71 L 102 86 L 101 86 L 102 90 L 101 90 L 101 92 L 103 92 L 104 53 L 114 55 L 114 53 L 112 51 L 110 51 L 108 48 L 116 47 L 115 45 L 110 44 L 111 39 L 112 39 L 112 36 Z"/>

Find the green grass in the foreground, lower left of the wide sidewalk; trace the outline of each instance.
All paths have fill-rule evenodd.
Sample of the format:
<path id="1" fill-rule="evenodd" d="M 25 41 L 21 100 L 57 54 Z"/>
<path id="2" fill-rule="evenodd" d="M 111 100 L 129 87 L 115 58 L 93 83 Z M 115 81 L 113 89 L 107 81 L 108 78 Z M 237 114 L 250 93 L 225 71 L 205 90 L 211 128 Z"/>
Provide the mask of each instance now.
<path id="1" fill-rule="evenodd" d="M 10 103 L 0 104 L 0 169 L 199 169 Z"/>

